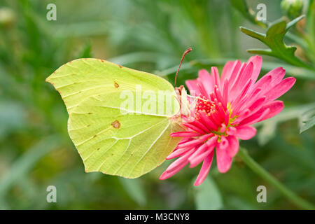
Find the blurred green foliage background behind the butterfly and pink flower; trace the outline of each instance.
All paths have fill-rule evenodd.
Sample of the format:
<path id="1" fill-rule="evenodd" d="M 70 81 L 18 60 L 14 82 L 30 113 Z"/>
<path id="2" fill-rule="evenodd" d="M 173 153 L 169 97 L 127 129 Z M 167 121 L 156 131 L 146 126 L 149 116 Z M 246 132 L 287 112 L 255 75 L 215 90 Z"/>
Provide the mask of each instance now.
<path id="1" fill-rule="evenodd" d="M 66 130 L 68 115 L 61 97 L 45 78 L 80 57 L 107 59 L 174 82 L 181 55 L 193 48 L 179 72 L 178 85 L 196 78 L 200 68 L 246 61 L 246 49 L 264 48 L 241 33 L 248 22 L 232 1 L 0 1 L 0 209 L 298 209 L 236 157 L 227 174 L 213 165 L 209 179 L 193 187 L 197 172 L 184 168 L 171 179 L 158 177 L 171 161 L 139 179 L 85 174 Z M 313 11 L 293 27 L 308 40 L 292 38 L 301 59 L 314 64 Z M 55 3 L 57 20 L 48 21 L 46 6 Z M 281 1 L 248 1 L 257 12 L 267 6 L 267 21 L 281 18 Z M 308 21 L 308 20 L 312 21 Z M 311 24 L 311 25 L 309 25 Z M 311 29 L 307 29 L 311 27 Z M 306 49 L 306 50 L 305 50 Z M 195 63 L 189 63 L 193 61 Z M 286 109 L 258 125 L 258 134 L 241 146 L 281 183 L 315 202 L 315 131 L 299 134 L 315 102 L 315 73 L 263 57 L 262 74 L 283 66 L 297 82 L 281 100 Z M 313 102 L 313 104 L 312 104 Z M 314 112 L 314 111 L 313 111 Z M 256 201 L 256 188 L 267 187 L 267 203 Z M 57 203 L 46 202 L 46 188 L 56 186 Z"/>

